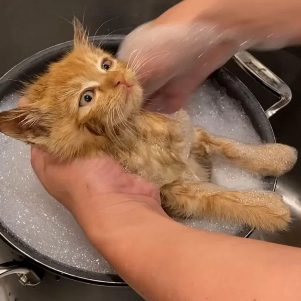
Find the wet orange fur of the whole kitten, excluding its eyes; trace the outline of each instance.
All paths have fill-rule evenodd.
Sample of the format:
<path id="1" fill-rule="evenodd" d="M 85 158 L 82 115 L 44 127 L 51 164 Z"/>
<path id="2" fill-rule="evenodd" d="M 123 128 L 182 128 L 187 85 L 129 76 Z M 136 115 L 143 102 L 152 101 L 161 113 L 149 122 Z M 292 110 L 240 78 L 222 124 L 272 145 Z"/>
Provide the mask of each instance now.
<path id="1" fill-rule="evenodd" d="M 0 113 L 1 132 L 39 145 L 60 160 L 107 154 L 156 183 L 171 215 L 213 217 L 269 231 L 287 228 L 290 213 L 280 196 L 209 184 L 209 159 L 221 155 L 252 172 L 279 176 L 296 162 L 292 147 L 238 144 L 196 128 L 185 160 L 181 122 L 142 110 L 135 73 L 92 45 L 81 24 L 74 23 L 73 50 L 28 85 L 18 108 Z M 104 59 L 113 62 L 107 71 L 101 69 Z M 129 90 L 118 84 L 123 80 L 132 85 Z M 80 107 L 87 89 L 94 98 Z"/>

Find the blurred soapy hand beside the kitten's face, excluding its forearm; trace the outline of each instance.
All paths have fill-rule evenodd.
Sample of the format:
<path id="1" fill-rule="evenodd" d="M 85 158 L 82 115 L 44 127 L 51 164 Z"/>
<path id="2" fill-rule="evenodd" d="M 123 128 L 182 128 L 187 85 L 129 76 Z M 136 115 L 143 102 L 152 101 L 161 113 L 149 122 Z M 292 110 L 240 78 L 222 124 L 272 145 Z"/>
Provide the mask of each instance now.
<path id="1" fill-rule="evenodd" d="M 235 54 L 237 47 L 218 38 L 213 25 L 156 25 L 135 29 L 118 57 L 128 61 L 144 89 L 145 108 L 173 113 L 201 82 Z M 205 27 L 203 27 L 205 26 Z M 202 31 L 202 32 L 201 32 Z"/>

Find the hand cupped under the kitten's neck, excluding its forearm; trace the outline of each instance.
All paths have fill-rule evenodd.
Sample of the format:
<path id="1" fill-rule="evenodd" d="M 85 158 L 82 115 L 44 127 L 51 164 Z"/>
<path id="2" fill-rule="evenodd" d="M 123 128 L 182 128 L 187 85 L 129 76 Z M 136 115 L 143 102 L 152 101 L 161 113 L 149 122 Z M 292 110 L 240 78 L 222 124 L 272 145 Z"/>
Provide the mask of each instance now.
<path id="1" fill-rule="evenodd" d="M 133 222 L 133 212 L 135 216 L 140 207 L 163 214 L 158 188 L 125 172 L 108 157 L 61 163 L 32 147 L 31 163 L 44 188 L 73 214 L 86 233 L 113 229 L 122 219 Z"/>

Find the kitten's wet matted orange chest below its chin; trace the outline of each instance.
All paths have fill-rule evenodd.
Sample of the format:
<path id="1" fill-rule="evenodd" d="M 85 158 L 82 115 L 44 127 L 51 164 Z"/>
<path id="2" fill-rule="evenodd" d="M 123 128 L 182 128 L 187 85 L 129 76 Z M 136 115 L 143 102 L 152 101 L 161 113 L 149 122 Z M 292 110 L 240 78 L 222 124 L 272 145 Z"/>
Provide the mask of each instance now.
<path id="1" fill-rule="evenodd" d="M 159 187 L 181 177 L 188 169 L 194 138 L 194 131 L 187 126 L 185 114 L 181 112 L 181 118 L 151 113 L 143 116 L 136 128 L 139 136 L 126 143 L 130 145 L 130 152 L 123 154 L 120 163 Z M 126 137 L 130 139 L 130 135 Z"/>

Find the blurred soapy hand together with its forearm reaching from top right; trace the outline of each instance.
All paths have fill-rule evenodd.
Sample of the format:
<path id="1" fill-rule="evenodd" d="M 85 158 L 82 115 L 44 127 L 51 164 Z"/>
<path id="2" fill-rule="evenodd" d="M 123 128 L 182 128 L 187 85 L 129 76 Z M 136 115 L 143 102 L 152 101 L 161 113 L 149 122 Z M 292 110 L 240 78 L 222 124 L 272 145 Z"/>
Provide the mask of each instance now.
<path id="1" fill-rule="evenodd" d="M 118 57 L 136 72 L 145 107 L 172 113 L 238 51 L 300 42 L 300 3 L 185 0 L 132 31 Z"/>

